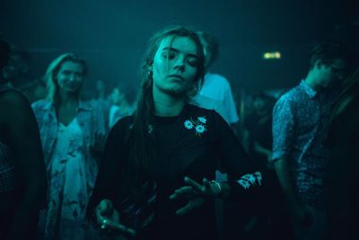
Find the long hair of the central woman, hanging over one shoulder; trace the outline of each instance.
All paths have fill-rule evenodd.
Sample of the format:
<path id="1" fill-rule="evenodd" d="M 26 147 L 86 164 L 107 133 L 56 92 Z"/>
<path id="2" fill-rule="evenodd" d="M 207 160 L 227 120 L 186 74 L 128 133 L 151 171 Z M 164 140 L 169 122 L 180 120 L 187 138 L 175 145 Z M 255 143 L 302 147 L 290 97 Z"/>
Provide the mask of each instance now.
<path id="1" fill-rule="evenodd" d="M 196 93 L 203 83 L 204 77 L 204 54 L 201 41 L 197 37 L 196 31 L 192 31 L 182 26 L 170 26 L 162 31 L 156 32 L 149 41 L 145 51 L 143 63 L 140 69 L 141 87 L 137 94 L 136 111 L 133 114 L 133 125 L 130 133 L 130 149 L 127 165 L 127 187 L 136 191 L 136 188 L 144 182 L 144 179 L 153 179 L 153 159 L 155 157 L 155 139 L 153 137 L 153 58 L 159 46 L 167 37 L 187 37 L 193 40 L 197 46 L 198 65 L 197 76 L 195 77 L 193 89 L 188 91 L 188 95 Z"/>

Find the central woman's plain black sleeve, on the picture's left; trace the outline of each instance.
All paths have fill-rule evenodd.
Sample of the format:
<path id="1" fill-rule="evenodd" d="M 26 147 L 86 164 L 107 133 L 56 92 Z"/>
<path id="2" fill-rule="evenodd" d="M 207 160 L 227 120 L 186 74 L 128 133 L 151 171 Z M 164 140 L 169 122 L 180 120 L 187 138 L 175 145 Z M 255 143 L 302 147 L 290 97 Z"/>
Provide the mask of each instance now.
<path id="1" fill-rule="evenodd" d="M 103 199 L 114 204 L 120 191 L 121 173 L 125 163 L 125 140 L 129 130 L 129 117 L 118 120 L 109 131 L 101 156 L 100 170 L 97 175 L 92 197 L 87 207 L 87 218 L 92 218 L 93 210 Z"/>

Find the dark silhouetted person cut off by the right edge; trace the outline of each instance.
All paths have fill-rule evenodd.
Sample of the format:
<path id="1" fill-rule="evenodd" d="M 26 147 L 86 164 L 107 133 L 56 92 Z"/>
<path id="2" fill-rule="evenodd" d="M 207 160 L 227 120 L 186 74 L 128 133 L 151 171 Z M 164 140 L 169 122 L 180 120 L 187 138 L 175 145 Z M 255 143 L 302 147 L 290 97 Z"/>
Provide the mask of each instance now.
<path id="1" fill-rule="evenodd" d="M 359 67 L 344 81 L 330 116 L 328 239 L 359 239 Z"/>

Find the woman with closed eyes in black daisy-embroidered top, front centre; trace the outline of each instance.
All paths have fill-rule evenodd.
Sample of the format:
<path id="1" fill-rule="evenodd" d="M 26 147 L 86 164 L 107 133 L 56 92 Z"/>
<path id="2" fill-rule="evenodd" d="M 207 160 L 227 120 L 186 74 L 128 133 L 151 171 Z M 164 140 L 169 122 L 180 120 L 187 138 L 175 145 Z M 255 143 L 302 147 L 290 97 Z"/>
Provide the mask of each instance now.
<path id="1" fill-rule="evenodd" d="M 216 198 L 241 204 L 260 198 L 266 178 L 230 126 L 216 111 L 188 103 L 204 61 L 188 28 L 165 28 L 150 40 L 136 110 L 109 132 L 87 210 L 104 231 L 136 239 L 217 239 Z M 217 160 L 235 181 L 209 181 Z"/>

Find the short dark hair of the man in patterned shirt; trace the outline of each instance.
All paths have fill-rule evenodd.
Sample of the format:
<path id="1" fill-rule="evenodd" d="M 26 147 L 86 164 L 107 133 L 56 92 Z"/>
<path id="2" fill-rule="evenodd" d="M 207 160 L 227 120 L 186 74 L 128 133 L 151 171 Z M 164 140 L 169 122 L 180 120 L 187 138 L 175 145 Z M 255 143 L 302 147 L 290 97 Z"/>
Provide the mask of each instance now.
<path id="1" fill-rule="evenodd" d="M 328 65 L 336 58 L 348 60 L 350 58 L 348 50 L 338 40 L 322 40 L 311 49 L 310 69 L 314 67 L 317 60 L 321 60 Z"/>

